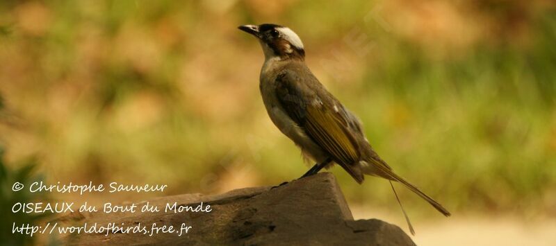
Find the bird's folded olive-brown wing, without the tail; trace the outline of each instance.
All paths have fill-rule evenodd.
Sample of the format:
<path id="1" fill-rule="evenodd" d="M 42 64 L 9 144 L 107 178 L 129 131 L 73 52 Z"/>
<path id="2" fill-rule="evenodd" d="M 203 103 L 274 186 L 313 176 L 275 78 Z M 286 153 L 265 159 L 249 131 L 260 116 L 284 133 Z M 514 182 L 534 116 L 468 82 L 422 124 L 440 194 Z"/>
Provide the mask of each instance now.
<path id="1" fill-rule="evenodd" d="M 310 72 L 306 78 L 298 76 L 299 72 L 307 71 L 285 69 L 275 80 L 282 108 L 334 162 L 363 182 L 359 144 L 351 129 L 354 119 L 347 117 L 343 105 Z"/>

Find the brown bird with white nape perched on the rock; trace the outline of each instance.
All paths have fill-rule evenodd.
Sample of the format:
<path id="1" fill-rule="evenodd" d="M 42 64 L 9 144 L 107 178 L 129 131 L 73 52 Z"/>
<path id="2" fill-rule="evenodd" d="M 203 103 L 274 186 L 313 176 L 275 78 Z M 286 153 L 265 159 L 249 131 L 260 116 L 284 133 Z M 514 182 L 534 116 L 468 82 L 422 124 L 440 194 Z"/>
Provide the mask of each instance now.
<path id="1" fill-rule="evenodd" d="M 364 175 L 382 177 L 390 181 L 395 193 L 392 182 L 399 182 L 444 216 L 451 215 L 379 157 L 363 133 L 359 118 L 327 91 L 307 67 L 304 45 L 291 28 L 277 24 L 238 28 L 256 37 L 263 49 L 259 89 L 270 120 L 301 149 L 304 157 L 316 161 L 301 178 L 338 164 L 359 184 Z M 411 234 L 415 234 L 397 193 L 395 197 Z"/>

